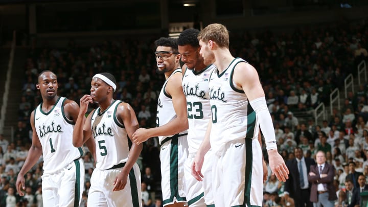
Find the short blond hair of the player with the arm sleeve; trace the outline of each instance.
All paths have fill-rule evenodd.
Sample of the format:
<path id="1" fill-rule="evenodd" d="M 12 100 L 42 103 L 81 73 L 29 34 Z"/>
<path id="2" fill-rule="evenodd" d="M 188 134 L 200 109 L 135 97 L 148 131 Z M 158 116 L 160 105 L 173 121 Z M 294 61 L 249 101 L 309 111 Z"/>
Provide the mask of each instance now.
<path id="1" fill-rule="evenodd" d="M 225 26 L 221 24 L 211 24 L 205 27 L 198 34 L 198 40 L 203 42 L 208 42 L 212 40 L 216 42 L 216 44 L 220 48 L 228 48 L 229 47 L 229 35 Z"/>

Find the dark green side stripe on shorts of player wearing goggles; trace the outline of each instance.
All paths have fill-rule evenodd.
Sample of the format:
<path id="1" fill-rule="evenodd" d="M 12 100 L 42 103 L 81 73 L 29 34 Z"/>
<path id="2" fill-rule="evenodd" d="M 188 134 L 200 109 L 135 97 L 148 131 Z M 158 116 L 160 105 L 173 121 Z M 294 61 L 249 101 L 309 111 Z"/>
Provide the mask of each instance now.
<path id="1" fill-rule="evenodd" d="M 186 197 L 179 196 L 178 184 L 178 136 L 173 136 L 170 143 L 170 198 L 163 201 L 163 204 L 177 201 L 186 201 Z"/>

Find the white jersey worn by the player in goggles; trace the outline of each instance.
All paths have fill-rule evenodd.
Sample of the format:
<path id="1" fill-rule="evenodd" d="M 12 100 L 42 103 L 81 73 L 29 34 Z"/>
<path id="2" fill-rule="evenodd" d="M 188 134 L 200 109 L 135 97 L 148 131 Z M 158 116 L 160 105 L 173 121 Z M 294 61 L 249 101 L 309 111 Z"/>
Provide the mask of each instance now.
<path id="1" fill-rule="evenodd" d="M 168 79 L 166 79 L 164 86 L 162 87 L 160 94 L 158 96 L 157 101 L 157 115 L 156 115 L 156 126 L 162 126 L 170 122 L 171 120 L 176 118 L 176 113 L 174 110 L 174 106 L 172 103 L 171 96 L 166 93 L 165 87 L 167 82 L 169 81 L 170 77 L 175 73 L 181 73 L 181 68 L 177 68 Z M 179 134 L 187 133 L 187 130 L 180 132 Z M 173 134 L 175 135 L 175 134 Z M 159 144 L 162 144 L 162 141 L 165 140 L 167 137 L 170 136 L 158 136 Z"/>

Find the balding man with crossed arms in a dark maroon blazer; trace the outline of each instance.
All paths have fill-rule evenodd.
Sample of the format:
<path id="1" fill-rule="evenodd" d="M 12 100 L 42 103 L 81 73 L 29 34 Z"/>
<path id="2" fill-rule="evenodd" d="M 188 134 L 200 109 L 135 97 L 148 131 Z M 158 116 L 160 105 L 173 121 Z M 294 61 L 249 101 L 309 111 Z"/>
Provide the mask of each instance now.
<path id="1" fill-rule="evenodd" d="M 313 165 L 308 173 L 308 181 L 312 183 L 310 201 L 314 206 L 333 207 L 337 199 L 333 180 L 335 167 L 326 163 L 324 151 L 316 153 L 317 165 Z"/>

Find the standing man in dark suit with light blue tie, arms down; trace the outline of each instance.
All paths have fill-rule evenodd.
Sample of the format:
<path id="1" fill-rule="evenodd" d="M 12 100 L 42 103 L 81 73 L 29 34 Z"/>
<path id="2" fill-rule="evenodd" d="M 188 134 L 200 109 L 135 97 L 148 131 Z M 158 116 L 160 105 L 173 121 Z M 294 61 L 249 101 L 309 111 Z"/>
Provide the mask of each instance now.
<path id="1" fill-rule="evenodd" d="M 310 186 L 308 172 L 310 166 L 315 165 L 313 159 L 304 157 L 303 150 L 294 149 L 295 158 L 286 163 L 289 169 L 289 179 L 285 182 L 285 193 L 288 193 L 295 201 L 295 206 L 313 206 L 309 200 Z"/>

